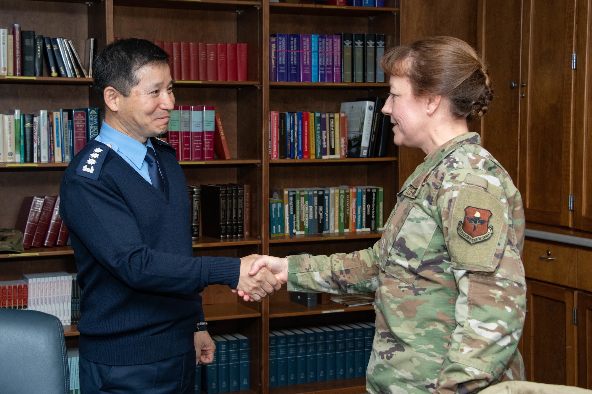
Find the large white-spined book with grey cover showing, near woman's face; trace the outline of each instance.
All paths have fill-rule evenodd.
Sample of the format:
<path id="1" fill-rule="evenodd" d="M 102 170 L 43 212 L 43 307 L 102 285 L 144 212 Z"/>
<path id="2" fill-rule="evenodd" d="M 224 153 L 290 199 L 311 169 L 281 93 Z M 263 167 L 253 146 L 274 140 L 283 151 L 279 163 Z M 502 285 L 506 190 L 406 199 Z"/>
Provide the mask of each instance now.
<path id="1" fill-rule="evenodd" d="M 348 117 L 348 157 L 368 157 L 374 104 L 371 101 L 342 102 L 340 111 Z"/>

